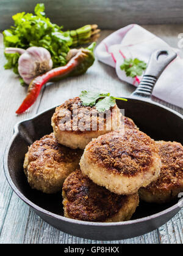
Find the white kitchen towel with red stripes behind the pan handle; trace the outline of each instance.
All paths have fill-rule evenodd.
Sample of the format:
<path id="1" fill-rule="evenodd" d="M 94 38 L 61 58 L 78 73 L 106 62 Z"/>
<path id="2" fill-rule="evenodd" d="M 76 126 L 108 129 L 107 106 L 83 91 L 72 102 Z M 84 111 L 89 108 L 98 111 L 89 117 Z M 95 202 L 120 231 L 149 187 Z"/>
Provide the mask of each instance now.
<path id="1" fill-rule="evenodd" d="M 96 47 L 96 57 L 116 69 L 121 80 L 138 86 L 142 77 L 126 77 L 120 69 L 125 58 L 138 58 L 148 63 L 153 51 L 167 50 L 170 46 L 146 29 L 131 24 L 110 34 Z M 174 49 L 178 56 L 163 71 L 154 86 L 152 94 L 170 104 L 183 108 L 183 59 L 179 49 Z"/>

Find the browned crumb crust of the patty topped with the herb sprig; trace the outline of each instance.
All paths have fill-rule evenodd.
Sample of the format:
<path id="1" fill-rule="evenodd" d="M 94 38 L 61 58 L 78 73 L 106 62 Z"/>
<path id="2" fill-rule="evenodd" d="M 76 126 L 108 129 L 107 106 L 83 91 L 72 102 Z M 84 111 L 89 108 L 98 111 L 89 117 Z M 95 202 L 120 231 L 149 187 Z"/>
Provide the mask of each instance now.
<path id="1" fill-rule="evenodd" d="M 77 106 L 78 111 L 77 118 L 74 119 L 73 105 Z M 76 107 L 74 107 L 74 109 L 75 108 Z M 60 121 L 62 122 L 64 119 L 62 124 L 64 129 L 68 132 L 74 132 L 76 134 L 90 132 L 90 130 L 99 130 L 99 127 L 106 123 L 106 117 L 112 117 L 113 108 L 117 108 L 117 105 L 111 107 L 104 113 L 98 113 L 95 107 L 84 106 L 82 105 L 81 99 L 79 97 L 75 97 L 73 99 L 66 100 L 62 105 L 56 108 L 56 111 L 52 116 L 52 122 L 54 122 L 56 126 L 59 126 Z M 92 127 L 92 123 L 96 124 L 96 127 Z"/>

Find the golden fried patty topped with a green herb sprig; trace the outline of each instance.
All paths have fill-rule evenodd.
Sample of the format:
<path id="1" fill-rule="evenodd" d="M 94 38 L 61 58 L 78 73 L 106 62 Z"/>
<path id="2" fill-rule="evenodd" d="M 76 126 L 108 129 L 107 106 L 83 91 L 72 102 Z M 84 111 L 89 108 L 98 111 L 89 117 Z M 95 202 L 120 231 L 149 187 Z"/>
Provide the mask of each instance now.
<path id="1" fill-rule="evenodd" d="M 51 124 L 59 143 L 84 149 L 92 138 L 119 129 L 120 117 L 117 105 L 105 113 L 98 113 L 95 107 L 85 107 L 81 99 L 75 97 L 56 108 Z"/>

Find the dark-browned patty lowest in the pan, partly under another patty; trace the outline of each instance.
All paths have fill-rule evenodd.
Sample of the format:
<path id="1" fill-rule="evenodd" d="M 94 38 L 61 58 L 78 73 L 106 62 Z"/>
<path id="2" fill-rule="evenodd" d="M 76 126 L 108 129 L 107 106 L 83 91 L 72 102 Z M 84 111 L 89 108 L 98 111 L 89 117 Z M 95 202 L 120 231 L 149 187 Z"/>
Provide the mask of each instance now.
<path id="1" fill-rule="evenodd" d="M 116 195 L 93 183 L 81 170 L 71 173 L 63 183 L 64 216 L 93 222 L 131 219 L 138 206 L 138 194 Z"/>

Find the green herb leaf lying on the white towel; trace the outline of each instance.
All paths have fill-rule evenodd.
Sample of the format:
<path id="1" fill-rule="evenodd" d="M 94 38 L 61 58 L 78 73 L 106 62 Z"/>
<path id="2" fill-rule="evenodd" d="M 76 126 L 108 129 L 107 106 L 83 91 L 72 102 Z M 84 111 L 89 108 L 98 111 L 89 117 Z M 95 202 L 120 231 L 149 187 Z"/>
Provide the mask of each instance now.
<path id="1" fill-rule="evenodd" d="M 123 64 L 120 66 L 121 70 L 126 72 L 127 77 L 136 77 L 137 75 L 142 75 L 143 70 L 146 69 L 146 63 L 140 61 L 140 59 L 124 59 Z"/>

